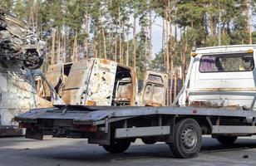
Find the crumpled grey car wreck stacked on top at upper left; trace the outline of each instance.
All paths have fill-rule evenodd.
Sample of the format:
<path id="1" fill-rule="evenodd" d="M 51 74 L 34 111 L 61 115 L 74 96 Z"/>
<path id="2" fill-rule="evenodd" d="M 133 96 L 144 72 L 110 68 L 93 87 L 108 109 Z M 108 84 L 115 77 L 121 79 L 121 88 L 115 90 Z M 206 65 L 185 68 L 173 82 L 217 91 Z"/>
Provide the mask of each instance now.
<path id="1" fill-rule="evenodd" d="M 22 61 L 29 69 L 42 66 L 45 42 L 17 18 L 0 10 L 0 61 Z"/>

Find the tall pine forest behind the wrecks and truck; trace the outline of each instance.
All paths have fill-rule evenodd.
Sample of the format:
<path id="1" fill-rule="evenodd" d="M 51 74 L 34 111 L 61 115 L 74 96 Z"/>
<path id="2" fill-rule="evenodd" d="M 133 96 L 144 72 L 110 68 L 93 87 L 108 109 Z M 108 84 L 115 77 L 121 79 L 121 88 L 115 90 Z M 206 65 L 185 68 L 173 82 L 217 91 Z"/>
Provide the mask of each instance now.
<path id="1" fill-rule="evenodd" d="M 192 46 L 256 43 L 256 0 L 0 0 L 47 41 L 43 70 L 99 57 L 185 80 Z M 160 42 L 153 42 L 158 27 Z M 153 51 L 157 45 L 158 52 Z"/>

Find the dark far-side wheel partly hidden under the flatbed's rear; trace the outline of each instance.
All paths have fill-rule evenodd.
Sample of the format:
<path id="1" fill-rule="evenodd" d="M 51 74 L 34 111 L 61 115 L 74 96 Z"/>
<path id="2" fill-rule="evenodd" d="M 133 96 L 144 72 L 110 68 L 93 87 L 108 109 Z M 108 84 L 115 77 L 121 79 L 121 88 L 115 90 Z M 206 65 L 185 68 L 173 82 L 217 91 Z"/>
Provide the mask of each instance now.
<path id="1" fill-rule="evenodd" d="M 102 145 L 102 147 L 111 154 L 121 154 L 130 146 L 130 140 L 120 139 L 111 142 L 110 145 Z"/>

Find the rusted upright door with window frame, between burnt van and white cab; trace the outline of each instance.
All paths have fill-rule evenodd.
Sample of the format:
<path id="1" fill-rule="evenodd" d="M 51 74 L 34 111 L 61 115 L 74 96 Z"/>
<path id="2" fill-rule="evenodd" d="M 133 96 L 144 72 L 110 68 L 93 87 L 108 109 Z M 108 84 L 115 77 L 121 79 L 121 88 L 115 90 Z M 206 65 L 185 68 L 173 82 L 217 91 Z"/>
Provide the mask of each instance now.
<path id="1" fill-rule="evenodd" d="M 146 71 L 141 91 L 141 106 L 165 106 L 167 103 L 168 75 Z"/>

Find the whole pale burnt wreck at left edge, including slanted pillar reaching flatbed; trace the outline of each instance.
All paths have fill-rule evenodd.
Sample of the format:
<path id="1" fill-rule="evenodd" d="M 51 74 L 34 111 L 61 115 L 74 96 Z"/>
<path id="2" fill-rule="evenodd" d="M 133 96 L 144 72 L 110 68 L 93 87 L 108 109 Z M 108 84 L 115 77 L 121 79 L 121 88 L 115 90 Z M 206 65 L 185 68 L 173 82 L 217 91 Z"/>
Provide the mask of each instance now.
<path id="1" fill-rule="evenodd" d="M 37 93 L 38 78 L 51 90 L 46 98 Z M 42 72 L 30 70 L 22 64 L 0 61 L 0 136 L 20 135 L 13 117 L 30 109 L 52 107 L 62 104 Z M 53 102 L 57 101 L 57 102 Z"/>

